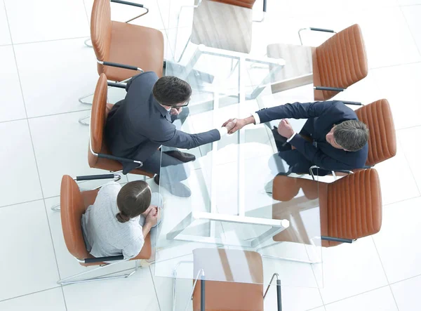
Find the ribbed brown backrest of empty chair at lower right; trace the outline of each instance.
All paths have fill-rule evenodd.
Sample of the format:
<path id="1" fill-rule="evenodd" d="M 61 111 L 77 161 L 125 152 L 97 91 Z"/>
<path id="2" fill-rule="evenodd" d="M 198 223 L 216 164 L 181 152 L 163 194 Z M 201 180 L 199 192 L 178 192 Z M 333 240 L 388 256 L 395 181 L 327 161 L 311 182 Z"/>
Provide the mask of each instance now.
<path id="1" fill-rule="evenodd" d="M 328 184 L 329 237 L 358 239 L 375 234 L 382 226 L 382 193 L 375 168 L 357 171 Z M 338 242 L 329 241 L 334 246 Z"/>

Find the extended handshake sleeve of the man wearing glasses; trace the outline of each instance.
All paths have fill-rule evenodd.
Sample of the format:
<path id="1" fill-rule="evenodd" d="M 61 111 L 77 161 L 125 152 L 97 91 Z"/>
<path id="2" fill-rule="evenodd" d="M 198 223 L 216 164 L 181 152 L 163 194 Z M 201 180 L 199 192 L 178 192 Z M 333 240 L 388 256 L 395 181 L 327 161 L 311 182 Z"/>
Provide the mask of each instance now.
<path id="1" fill-rule="evenodd" d="M 161 145 L 167 147 L 192 149 L 201 145 L 213 143 L 216 140 L 220 140 L 220 138 L 220 132 L 217 129 L 203 133 L 189 134 L 183 131 L 178 131 L 174 126 L 172 133 L 168 131 L 164 135 L 161 135 L 161 137 L 152 138 L 152 140 L 155 143 L 160 143 Z"/>

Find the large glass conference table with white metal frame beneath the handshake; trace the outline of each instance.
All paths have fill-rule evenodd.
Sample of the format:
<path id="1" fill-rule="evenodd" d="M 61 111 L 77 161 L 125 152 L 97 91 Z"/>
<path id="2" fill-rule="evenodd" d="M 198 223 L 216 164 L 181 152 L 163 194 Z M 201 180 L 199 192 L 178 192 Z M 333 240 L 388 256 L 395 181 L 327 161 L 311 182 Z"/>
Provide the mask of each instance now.
<path id="1" fill-rule="evenodd" d="M 201 1 L 200 6 L 208 2 Z M 279 58 L 282 55 L 255 55 L 248 52 L 247 44 L 242 52 L 232 51 L 243 48 L 241 38 L 247 34 L 234 36 L 234 41 L 241 41 L 238 45 L 230 41 L 231 45 L 223 46 L 224 39 L 218 41 L 218 47 L 212 46 L 213 41 L 195 44 L 201 37 L 194 34 L 200 27 L 195 22 L 203 22 L 203 12 L 199 12 L 199 21 L 195 18 L 197 9 L 181 8 L 178 1 L 170 1 L 171 11 L 193 14 L 190 25 L 180 20 L 182 13 L 172 14 L 168 20 L 170 25 L 184 25 L 168 32 L 166 48 L 172 55 L 167 58 L 166 75 L 185 79 L 193 90 L 189 116 L 178 124 L 182 131 L 201 133 L 265 107 L 313 100 L 311 48 L 307 54 L 281 48 L 289 60 L 309 63 L 307 81 L 290 87 L 290 78 L 302 77 L 302 72 L 291 74 L 293 63 Z M 207 21 L 239 19 L 243 11 L 241 8 L 239 15 L 235 10 L 225 11 L 232 15 L 223 15 L 222 20 L 215 13 L 219 17 L 208 16 Z M 272 88 L 276 93 L 272 94 Z M 290 122 L 295 131 L 304 124 L 303 120 Z M 283 286 L 323 286 L 318 177 L 276 177 L 289 168 L 278 156 L 272 135 L 273 125 L 278 124 L 279 120 L 249 125 L 215 143 L 182 150 L 196 156 L 195 161 L 182 165 L 189 176 L 182 183 L 192 195 L 176 197 L 160 187 L 164 209 L 156 241 L 156 276 L 196 279 L 206 266 L 206 280 L 268 284 L 272 274 L 278 273 Z M 162 152 L 168 150 L 171 148 L 162 147 Z M 173 176 L 161 168 L 160 180 L 168 183 Z M 203 261 L 203 256 L 197 255 L 203 254 L 203 249 L 210 252 L 208 260 L 216 260 Z M 262 277 L 254 276 L 249 251 L 260 254 Z"/>

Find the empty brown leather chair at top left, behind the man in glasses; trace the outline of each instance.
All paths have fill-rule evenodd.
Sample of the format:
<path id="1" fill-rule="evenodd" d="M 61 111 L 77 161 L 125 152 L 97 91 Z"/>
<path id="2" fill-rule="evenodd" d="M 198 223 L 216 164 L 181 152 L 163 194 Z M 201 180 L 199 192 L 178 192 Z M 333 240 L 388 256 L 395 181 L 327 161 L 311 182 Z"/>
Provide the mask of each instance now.
<path id="1" fill-rule="evenodd" d="M 142 71 L 162 77 L 163 34 L 158 29 L 111 20 L 109 0 L 95 0 L 91 13 L 91 40 L 98 74 L 123 81 Z M 112 1 L 121 3 L 121 1 Z M 123 4 L 131 4 L 127 1 Z"/>

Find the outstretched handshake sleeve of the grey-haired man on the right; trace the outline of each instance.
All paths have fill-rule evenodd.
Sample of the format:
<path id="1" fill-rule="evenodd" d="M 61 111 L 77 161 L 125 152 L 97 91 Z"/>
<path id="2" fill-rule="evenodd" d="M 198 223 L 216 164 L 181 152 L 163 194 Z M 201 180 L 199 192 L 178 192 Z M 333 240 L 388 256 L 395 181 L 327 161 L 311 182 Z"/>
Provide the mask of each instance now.
<path id="1" fill-rule="evenodd" d="M 333 107 L 334 101 L 328 102 L 294 102 L 293 104 L 279 105 L 265 108 L 256 112 L 260 123 L 279 119 L 308 119 L 319 117 Z"/>

